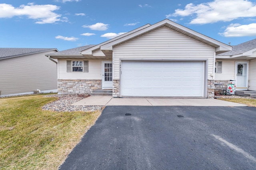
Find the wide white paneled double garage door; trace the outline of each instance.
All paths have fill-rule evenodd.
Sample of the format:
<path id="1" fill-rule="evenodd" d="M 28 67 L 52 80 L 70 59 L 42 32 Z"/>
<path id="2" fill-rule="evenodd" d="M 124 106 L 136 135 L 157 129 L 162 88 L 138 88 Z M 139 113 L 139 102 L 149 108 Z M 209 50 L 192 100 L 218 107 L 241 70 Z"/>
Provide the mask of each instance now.
<path id="1" fill-rule="evenodd" d="M 203 61 L 122 61 L 121 70 L 122 96 L 203 97 Z"/>

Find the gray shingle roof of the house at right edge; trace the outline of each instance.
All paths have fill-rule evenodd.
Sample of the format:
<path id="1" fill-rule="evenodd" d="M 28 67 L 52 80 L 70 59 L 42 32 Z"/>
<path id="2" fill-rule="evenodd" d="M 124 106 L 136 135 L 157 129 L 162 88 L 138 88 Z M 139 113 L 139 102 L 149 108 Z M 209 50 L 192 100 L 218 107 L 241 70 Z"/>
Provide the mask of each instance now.
<path id="1" fill-rule="evenodd" d="M 252 49 L 256 49 L 256 39 L 235 45 L 233 46 L 232 51 L 228 51 L 219 55 L 237 55 L 245 53 L 246 51 L 250 51 Z"/>

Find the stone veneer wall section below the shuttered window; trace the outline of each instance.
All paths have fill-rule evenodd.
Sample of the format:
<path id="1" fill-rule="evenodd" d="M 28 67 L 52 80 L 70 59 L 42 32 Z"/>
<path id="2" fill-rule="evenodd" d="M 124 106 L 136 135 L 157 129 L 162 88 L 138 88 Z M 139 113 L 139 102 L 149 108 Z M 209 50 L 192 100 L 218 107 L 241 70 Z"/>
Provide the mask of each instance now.
<path id="1" fill-rule="evenodd" d="M 58 80 L 58 94 L 91 93 L 95 89 L 102 89 L 102 80 Z"/>

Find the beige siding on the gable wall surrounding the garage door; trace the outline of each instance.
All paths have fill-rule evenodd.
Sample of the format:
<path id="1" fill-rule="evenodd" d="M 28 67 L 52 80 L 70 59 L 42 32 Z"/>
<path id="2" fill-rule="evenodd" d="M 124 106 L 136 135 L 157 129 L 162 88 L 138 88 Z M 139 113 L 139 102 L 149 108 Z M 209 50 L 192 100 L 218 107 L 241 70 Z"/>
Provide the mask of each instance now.
<path id="1" fill-rule="evenodd" d="M 114 79 L 119 79 L 120 59 L 208 59 L 208 79 L 213 79 L 214 48 L 167 27 L 114 47 Z"/>

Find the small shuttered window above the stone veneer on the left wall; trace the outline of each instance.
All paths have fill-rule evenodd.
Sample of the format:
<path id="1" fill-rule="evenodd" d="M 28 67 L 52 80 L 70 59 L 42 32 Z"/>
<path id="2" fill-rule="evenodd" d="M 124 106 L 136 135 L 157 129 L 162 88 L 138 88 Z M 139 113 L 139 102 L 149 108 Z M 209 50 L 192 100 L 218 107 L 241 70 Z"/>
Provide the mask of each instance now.
<path id="1" fill-rule="evenodd" d="M 88 61 L 67 61 L 67 72 L 88 72 Z"/>

